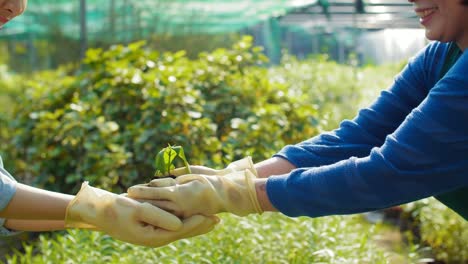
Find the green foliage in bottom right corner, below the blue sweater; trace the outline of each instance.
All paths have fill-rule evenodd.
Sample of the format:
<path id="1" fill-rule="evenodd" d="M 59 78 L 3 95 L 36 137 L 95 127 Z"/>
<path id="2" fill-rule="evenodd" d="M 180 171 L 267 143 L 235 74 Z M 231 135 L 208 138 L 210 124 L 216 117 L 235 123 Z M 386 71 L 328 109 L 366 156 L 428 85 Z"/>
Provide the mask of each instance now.
<path id="1" fill-rule="evenodd" d="M 465 219 L 433 198 L 411 203 L 405 210 L 418 226 L 418 242 L 428 245 L 436 260 L 468 262 L 468 222 Z"/>

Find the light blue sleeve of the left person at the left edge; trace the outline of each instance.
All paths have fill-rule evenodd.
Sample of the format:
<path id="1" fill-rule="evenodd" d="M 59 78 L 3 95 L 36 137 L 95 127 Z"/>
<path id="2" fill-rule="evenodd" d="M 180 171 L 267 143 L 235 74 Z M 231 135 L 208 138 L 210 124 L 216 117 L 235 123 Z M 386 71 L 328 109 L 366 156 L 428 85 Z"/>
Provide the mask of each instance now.
<path id="1" fill-rule="evenodd" d="M 8 173 L 3 168 L 2 157 L 0 157 L 0 211 L 5 209 L 5 207 L 10 202 L 13 195 L 16 192 L 16 180 L 13 176 Z M 3 225 L 5 224 L 5 219 L 0 218 L 0 237 L 2 236 L 11 236 L 16 235 L 20 232 L 10 231 L 6 229 Z"/>

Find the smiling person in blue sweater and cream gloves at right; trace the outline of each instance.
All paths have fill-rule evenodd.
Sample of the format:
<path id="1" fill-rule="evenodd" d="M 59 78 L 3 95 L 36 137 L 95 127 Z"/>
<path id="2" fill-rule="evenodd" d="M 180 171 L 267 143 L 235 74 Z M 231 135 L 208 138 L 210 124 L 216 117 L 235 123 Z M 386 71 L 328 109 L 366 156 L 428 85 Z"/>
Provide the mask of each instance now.
<path id="1" fill-rule="evenodd" d="M 468 219 L 468 1 L 409 2 L 434 42 L 353 120 L 255 166 L 192 166 L 192 174 L 132 186 L 128 195 L 183 217 L 320 217 L 435 196 Z"/>

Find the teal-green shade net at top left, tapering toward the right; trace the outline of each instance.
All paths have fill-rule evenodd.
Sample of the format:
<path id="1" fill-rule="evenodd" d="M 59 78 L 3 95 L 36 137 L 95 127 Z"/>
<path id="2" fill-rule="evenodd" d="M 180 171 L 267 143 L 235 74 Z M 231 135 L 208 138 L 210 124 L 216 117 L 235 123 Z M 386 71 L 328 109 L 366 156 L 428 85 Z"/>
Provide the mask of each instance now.
<path id="1" fill-rule="evenodd" d="M 86 0 L 88 39 L 126 40 L 152 34 L 189 35 L 236 32 L 317 0 L 158 1 Z M 26 12 L 0 30 L 0 37 L 80 38 L 80 1 L 29 1 Z"/>

